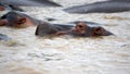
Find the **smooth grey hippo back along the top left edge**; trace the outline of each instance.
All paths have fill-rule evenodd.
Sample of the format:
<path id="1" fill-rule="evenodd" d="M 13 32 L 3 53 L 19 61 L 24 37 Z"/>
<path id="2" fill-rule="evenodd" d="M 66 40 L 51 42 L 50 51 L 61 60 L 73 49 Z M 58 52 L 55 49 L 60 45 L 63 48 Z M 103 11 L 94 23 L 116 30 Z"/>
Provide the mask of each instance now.
<path id="1" fill-rule="evenodd" d="M 61 7 L 50 0 L 0 0 L 0 3 L 18 7 Z"/>

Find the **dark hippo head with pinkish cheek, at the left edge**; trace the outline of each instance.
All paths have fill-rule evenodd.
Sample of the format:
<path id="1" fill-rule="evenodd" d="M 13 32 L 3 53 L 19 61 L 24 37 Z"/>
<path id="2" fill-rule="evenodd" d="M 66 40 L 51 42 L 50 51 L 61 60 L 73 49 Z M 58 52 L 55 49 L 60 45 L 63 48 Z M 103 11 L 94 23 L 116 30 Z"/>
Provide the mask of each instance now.
<path id="1" fill-rule="evenodd" d="M 0 18 L 1 26 L 24 28 L 34 25 L 31 18 L 27 17 L 26 14 L 17 12 L 9 12 Z"/>

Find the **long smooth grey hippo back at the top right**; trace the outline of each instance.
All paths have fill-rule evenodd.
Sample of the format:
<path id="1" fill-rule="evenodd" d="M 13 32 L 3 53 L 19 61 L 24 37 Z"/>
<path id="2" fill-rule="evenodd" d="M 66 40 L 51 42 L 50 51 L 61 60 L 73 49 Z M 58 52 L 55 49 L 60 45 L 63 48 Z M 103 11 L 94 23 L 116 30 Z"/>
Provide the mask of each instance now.
<path id="1" fill-rule="evenodd" d="M 76 5 L 64 9 L 68 13 L 116 13 L 130 11 L 130 2 L 127 1 L 101 1 L 84 5 Z"/>

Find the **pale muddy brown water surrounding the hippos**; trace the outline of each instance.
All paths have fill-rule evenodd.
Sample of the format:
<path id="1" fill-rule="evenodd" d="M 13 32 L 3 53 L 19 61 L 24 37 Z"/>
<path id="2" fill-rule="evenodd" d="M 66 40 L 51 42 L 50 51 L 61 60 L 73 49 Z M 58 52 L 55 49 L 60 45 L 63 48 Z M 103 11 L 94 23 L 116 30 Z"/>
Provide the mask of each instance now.
<path id="1" fill-rule="evenodd" d="M 54 1 L 64 8 L 87 3 L 87 0 Z M 23 29 L 0 27 L 0 33 L 12 37 L 10 41 L 0 41 L 0 73 L 130 74 L 130 12 L 68 14 L 61 11 L 63 8 L 23 9 L 39 20 L 57 18 L 51 23 L 89 21 L 104 24 L 101 26 L 115 35 L 99 38 L 39 38 L 34 35 L 35 26 Z"/>

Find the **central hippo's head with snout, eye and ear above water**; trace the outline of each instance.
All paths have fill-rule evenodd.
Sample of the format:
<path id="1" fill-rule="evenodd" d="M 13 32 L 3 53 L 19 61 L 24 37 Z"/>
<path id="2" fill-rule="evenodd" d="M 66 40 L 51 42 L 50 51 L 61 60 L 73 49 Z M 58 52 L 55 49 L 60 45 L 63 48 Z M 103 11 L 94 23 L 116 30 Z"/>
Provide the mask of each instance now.
<path id="1" fill-rule="evenodd" d="M 103 27 L 91 27 L 86 23 L 77 23 L 76 26 L 73 25 L 57 25 L 43 23 L 38 25 L 36 29 L 37 36 L 47 36 L 47 35 L 70 35 L 74 37 L 98 37 L 98 36 L 109 36 L 113 35 L 110 32 L 106 30 Z"/>

